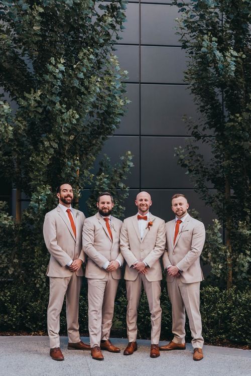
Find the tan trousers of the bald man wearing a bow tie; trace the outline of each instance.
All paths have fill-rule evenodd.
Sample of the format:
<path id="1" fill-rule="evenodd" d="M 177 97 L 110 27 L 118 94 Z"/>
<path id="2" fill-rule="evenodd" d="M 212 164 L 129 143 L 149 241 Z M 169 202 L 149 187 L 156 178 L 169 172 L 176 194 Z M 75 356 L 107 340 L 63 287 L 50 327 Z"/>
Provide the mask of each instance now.
<path id="1" fill-rule="evenodd" d="M 129 342 L 137 340 L 137 317 L 138 306 L 141 296 L 142 283 L 147 295 L 149 310 L 151 313 L 151 343 L 159 344 L 161 331 L 161 313 L 160 307 L 160 281 L 149 282 L 143 274 L 139 274 L 135 281 L 126 281 L 127 285 L 127 335 Z"/>

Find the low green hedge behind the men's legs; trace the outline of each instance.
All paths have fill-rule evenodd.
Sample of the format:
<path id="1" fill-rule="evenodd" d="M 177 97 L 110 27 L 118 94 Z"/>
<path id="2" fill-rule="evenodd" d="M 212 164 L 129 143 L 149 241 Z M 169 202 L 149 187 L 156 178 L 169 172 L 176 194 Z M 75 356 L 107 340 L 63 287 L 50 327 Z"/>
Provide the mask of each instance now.
<path id="1" fill-rule="evenodd" d="M 12 281 L 2 286 L 0 293 L 0 328 L 2 331 L 46 332 L 46 311 L 49 296 L 47 282 L 42 288 L 19 285 Z M 3 285 L 3 282 L 2 282 Z M 250 344 L 250 289 L 238 291 L 236 288 L 220 290 L 218 287 L 202 286 L 200 296 L 203 336 L 207 343 L 230 341 L 232 343 Z M 172 338 L 172 313 L 168 299 L 166 282 L 162 281 L 162 329 L 161 339 Z M 120 281 L 115 302 L 112 335 L 127 336 L 126 331 L 127 298 L 125 282 Z M 138 311 L 139 338 L 150 338 L 151 320 L 147 297 L 142 292 Z M 84 280 L 79 304 L 80 331 L 88 331 L 87 283 Z M 186 340 L 191 334 L 186 323 Z M 61 314 L 61 332 L 66 332 L 65 309 Z"/>

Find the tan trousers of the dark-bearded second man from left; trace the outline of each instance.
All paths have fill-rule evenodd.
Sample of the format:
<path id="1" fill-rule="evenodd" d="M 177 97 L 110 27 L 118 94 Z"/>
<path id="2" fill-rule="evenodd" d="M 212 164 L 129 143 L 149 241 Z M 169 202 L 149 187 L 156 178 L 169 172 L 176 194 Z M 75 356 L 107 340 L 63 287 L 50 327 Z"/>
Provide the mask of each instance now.
<path id="1" fill-rule="evenodd" d="M 110 336 L 114 300 L 119 280 L 107 273 L 103 279 L 88 278 L 88 326 L 91 347 Z"/>

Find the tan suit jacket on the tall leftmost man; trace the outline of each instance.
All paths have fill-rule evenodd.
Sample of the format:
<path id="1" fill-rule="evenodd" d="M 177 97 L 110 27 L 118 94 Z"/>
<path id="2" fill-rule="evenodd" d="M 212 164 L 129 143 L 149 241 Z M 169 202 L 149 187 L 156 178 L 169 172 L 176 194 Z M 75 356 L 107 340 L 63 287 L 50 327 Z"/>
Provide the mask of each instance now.
<path id="1" fill-rule="evenodd" d="M 84 261 L 82 228 L 85 216 L 82 211 L 73 208 L 72 214 L 77 238 L 72 231 L 70 221 L 60 206 L 45 215 L 43 233 L 45 244 L 51 254 L 46 272 L 48 277 L 70 277 L 72 272 L 66 265 L 71 260 L 81 259 Z M 83 276 L 82 268 L 76 272 L 76 275 Z"/>

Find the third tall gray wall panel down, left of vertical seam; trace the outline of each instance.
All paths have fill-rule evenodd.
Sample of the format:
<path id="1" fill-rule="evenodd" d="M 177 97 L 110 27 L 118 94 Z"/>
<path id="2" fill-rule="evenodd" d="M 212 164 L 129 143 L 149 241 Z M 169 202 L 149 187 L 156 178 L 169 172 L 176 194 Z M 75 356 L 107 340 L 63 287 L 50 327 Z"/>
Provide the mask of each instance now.
<path id="1" fill-rule="evenodd" d="M 140 134 L 140 85 L 138 83 L 127 84 L 127 97 L 131 100 L 128 111 L 116 130 L 116 135 L 139 135 Z"/>

